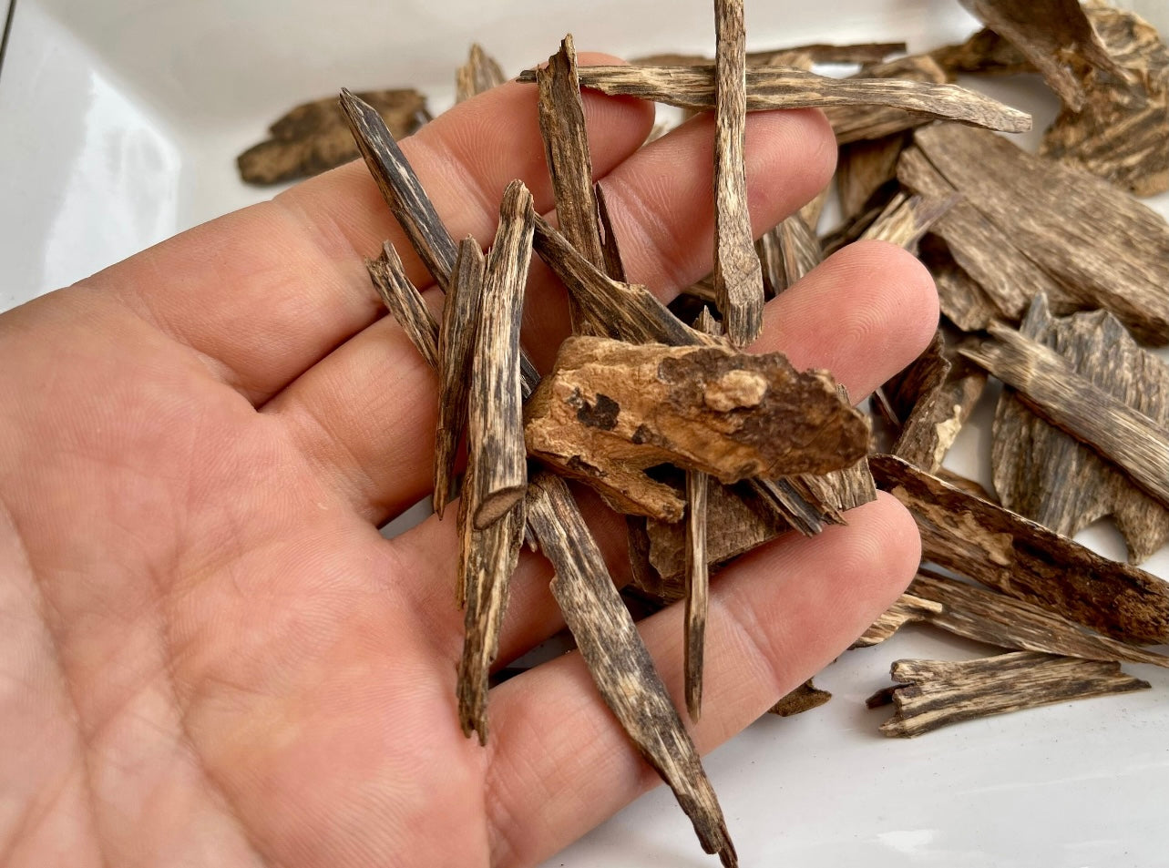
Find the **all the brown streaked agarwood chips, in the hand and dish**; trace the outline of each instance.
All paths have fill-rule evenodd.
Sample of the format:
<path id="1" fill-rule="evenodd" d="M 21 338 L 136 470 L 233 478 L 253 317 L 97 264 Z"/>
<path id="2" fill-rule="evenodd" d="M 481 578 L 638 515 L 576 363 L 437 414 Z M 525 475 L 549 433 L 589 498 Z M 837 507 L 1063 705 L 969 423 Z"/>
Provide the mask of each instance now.
<path id="1" fill-rule="evenodd" d="M 1143 647 L 1169 641 L 1169 584 L 1071 539 L 1111 515 L 1133 564 L 1169 539 L 1169 369 L 1144 348 L 1169 343 L 1169 227 L 1134 199 L 1169 189 L 1169 49 L 1099 0 L 962 5 L 985 29 L 909 56 L 904 44 L 747 54 L 742 0 L 714 2 L 713 61 L 577 69 L 566 37 L 519 77 L 539 91 L 558 225 L 516 181 L 486 256 L 479 241 L 451 238 L 395 144 L 429 119 L 416 91 L 300 106 L 240 158 L 244 179 L 264 183 L 360 153 L 445 292 L 435 322 L 388 242 L 368 262 L 438 375 L 440 515 L 464 435 L 468 444 L 457 516 L 464 732 L 486 741 L 489 671 L 527 541 L 554 565 L 553 593 L 606 703 L 727 866 L 736 857 L 718 800 L 630 610 L 685 600 L 685 696 L 697 718 L 708 571 L 782 533 L 845 522 L 878 487 L 916 519 L 924 565 L 857 646 L 925 622 L 1005 650 L 897 661 L 897 683 L 870 700 L 893 706 L 885 734 L 1148 688 L 1121 662 L 1169 665 Z M 811 71 L 823 63 L 860 72 Z M 1038 72 L 1063 104 L 1038 155 L 991 132 L 1028 130 L 1029 116 L 952 83 L 1017 72 Z M 503 81 L 473 47 L 458 98 Z M 625 280 L 593 182 L 582 88 L 717 116 L 714 271 L 669 305 L 658 287 Z M 803 106 L 824 109 L 836 131 L 842 223 L 818 234 L 825 190 L 756 241 L 746 112 Z M 766 299 L 858 238 L 915 252 L 943 313 L 933 345 L 874 396 L 872 418 L 828 373 L 740 349 L 758 336 Z M 542 379 L 519 334 L 533 250 L 563 284 L 573 321 Z M 988 375 L 1004 383 L 995 493 L 942 467 Z M 628 588 L 610 578 L 566 478 L 628 516 Z M 809 681 L 773 710 L 828 697 Z"/>

